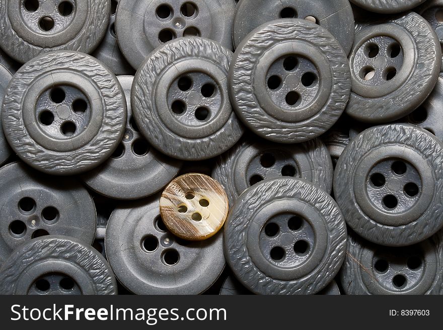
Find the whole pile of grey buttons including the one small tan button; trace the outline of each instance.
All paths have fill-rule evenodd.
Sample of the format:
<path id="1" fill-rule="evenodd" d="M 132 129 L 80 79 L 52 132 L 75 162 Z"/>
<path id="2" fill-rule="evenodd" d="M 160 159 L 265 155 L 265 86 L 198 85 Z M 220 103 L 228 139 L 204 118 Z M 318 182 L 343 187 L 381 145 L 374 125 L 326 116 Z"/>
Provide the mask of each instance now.
<path id="1" fill-rule="evenodd" d="M 0 0 L 0 294 L 443 294 L 442 0 Z"/>

